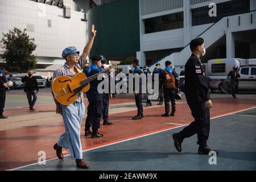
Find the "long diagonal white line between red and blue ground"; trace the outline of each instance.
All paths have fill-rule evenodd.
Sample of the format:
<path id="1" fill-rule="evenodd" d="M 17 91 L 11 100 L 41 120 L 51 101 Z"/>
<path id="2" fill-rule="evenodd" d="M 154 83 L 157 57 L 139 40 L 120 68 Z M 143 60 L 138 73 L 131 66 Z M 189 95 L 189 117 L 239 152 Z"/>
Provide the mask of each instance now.
<path id="1" fill-rule="evenodd" d="M 219 116 L 217 116 L 217 117 L 213 117 L 213 118 L 210 118 L 210 119 L 216 119 L 216 118 L 224 117 L 224 116 L 226 116 L 226 115 L 232 115 L 232 114 L 234 114 L 234 113 L 240 113 L 240 112 L 242 112 L 242 111 L 246 111 L 246 110 L 250 110 L 250 109 L 254 109 L 254 108 L 256 108 L 256 106 L 250 107 L 249 109 L 243 109 L 243 110 L 234 111 L 234 112 L 232 112 L 232 113 L 219 115 Z M 151 134 L 146 134 L 146 135 L 142 135 L 142 136 L 139 136 L 139 137 L 134 137 L 134 138 L 125 139 L 125 140 L 121 140 L 121 141 L 119 141 L 119 142 L 114 142 L 114 143 L 110 143 L 110 144 L 105 144 L 105 145 L 103 145 L 103 146 L 99 146 L 99 147 L 95 147 L 95 148 L 90 148 L 90 149 L 84 150 L 84 151 L 82 151 L 82 152 L 91 151 L 91 150 L 96 150 L 96 149 L 102 148 L 102 147 L 112 146 L 112 145 L 114 145 L 114 144 L 118 144 L 118 143 L 122 143 L 122 142 L 127 142 L 127 141 L 129 141 L 129 140 L 134 140 L 134 139 L 138 139 L 138 138 L 142 138 L 142 137 L 147 137 L 147 136 L 150 136 L 150 135 L 162 133 L 162 132 L 164 132 L 164 131 L 174 130 L 174 129 L 177 129 L 177 128 L 179 128 L 179 127 L 183 127 L 183 126 L 187 126 L 187 125 L 189 125 L 189 124 L 181 125 L 181 126 L 176 126 L 176 127 L 172 127 L 171 129 L 166 129 L 166 130 L 162 130 L 162 131 L 156 131 L 155 133 L 151 133 Z M 64 155 L 64 157 L 70 156 L 70 155 L 71 155 L 71 154 L 67 154 L 67 155 Z M 56 158 L 53 158 L 53 159 L 47 159 L 46 162 L 49 162 L 49 161 L 52 161 L 52 160 L 55 160 L 55 159 L 58 159 L 58 158 L 56 157 Z M 20 166 L 20 167 L 16 167 L 16 168 L 13 168 L 13 169 L 8 169 L 8 170 L 6 170 L 6 171 L 14 171 L 14 170 L 16 170 L 16 169 L 22 169 L 22 168 L 26 168 L 26 167 L 29 167 L 29 166 L 34 166 L 34 165 L 36 165 L 36 164 L 38 164 L 38 163 L 32 163 L 32 164 L 28 164 L 28 165 L 26 165 L 26 166 Z"/>

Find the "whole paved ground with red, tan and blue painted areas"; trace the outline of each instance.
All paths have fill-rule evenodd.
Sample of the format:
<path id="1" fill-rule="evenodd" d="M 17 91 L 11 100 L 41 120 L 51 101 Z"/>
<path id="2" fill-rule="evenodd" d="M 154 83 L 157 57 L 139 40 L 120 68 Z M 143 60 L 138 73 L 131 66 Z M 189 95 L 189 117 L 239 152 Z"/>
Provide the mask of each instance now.
<path id="1" fill-rule="evenodd" d="M 238 94 L 237 100 L 219 93 L 212 94 L 211 97 L 214 105 L 211 110 L 212 117 L 256 106 L 256 94 Z M 252 116 L 256 113 L 255 110 L 212 120 L 209 143 L 210 146 L 220 150 L 221 154 L 218 157 L 218 167 L 213 167 L 208 164 L 208 156 L 196 155 L 195 138 L 184 142 L 182 154 L 177 154 L 170 142 L 170 135 L 180 130 L 175 129 L 176 127 L 184 127 L 192 121 L 185 100 L 178 102 L 177 114 L 172 118 L 160 117 L 164 112 L 164 106 L 158 106 L 156 103 L 153 102 L 154 106 L 144 110 L 146 115 L 144 119 L 132 121 L 131 117 L 137 113 L 133 96 L 121 95 L 110 100 L 110 119 L 115 125 L 101 126 L 100 132 L 105 137 L 85 138 L 84 132 L 81 131 L 84 158 L 90 163 L 90 170 L 105 170 L 104 166 L 110 166 L 109 170 L 255 169 L 253 156 L 255 156 L 254 121 L 256 119 Z M 85 100 L 85 105 L 87 104 Z M 23 90 L 14 90 L 7 94 L 5 114 L 9 118 L 0 120 L 0 170 L 35 163 L 39 158 L 39 151 L 46 151 L 47 159 L 51 161 L 47 161 L 46 166 L 22 169 L 76 170 L 69 156 L 63 162 L 54 159 L 56 154 L 52 146 L 64 132 L 64 125 L 61 117 L 55 114 L 50 89 L 40 90 L 35 109 L 36 111 L 28 110 Z M 167 131 L 170 129 L 171 131 Z M 84 126 L 81 130 L 84 130 Z M 250 140 L 246 140 L 248 138 Z M 123 142 L 125 140 L 127 141 Z M 64 152 L 69 154 L 68 150 Z M 111 155 L 107 155 L 106 158 L 104 154 Z M 190 158 L 195 159 L 192 163 L 186 162 Z M 134 165 L 131 165 L 132 162 Z M 151 163 L 156 163 L 156 167 L 150 166 Z"/>

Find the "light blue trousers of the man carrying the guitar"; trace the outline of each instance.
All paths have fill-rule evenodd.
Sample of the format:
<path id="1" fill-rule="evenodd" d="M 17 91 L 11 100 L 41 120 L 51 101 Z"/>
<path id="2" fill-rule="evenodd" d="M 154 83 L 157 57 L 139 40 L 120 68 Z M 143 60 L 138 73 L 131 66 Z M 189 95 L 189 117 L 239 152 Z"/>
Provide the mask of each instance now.
<path id="1" fill-rule="evenodd" d="M 80 129 L 85 113 L 84 102 L 75 101 L 68 106 L 61 105 L 61 110 L 66 131 L 60 136 L 58 146 L 69 149 L 73 159 L 82 159 Z"/>

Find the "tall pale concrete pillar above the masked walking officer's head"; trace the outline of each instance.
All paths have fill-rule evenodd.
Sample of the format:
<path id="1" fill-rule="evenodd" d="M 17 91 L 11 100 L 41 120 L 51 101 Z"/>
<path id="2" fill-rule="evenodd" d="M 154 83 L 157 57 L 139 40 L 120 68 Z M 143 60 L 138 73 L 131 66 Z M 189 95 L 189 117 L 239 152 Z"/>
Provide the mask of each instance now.
<path id="1" fill-rule="evenodd" d="M 190 9 L 190 1 L 183 0 L 183 17 L 184 17 L 184 46 L 191 41 L 192 13 Z"/>

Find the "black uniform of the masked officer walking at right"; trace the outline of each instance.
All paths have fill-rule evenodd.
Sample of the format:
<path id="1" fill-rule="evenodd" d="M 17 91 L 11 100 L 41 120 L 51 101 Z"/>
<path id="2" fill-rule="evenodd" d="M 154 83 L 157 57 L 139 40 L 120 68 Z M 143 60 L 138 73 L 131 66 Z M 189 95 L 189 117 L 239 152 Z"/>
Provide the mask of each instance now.
<path id="1" fill-rule="evenodd" d="M 205 101 L 210 100 L 210 95 L 205 65 L 195 55 L 191 55 L 185 65 L 185 96 L 195 121 L 180 131 L 179 137 L 184 139 L 197 134 L 198 144 L 205 147 L 210 131 L 210 112 Z"/>

